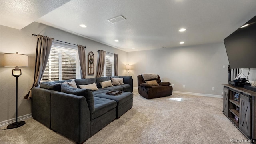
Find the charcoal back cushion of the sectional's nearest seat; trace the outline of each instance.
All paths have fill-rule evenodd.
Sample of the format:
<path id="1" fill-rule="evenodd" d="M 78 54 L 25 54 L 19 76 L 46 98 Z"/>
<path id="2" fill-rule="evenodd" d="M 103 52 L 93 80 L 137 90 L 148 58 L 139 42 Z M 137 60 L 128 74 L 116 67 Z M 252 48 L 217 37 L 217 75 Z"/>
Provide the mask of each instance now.
<path id="1" fill-rule="evenodd" d="M 72 86 L 69 86 L 67 84 L 62 84 L 61 85 L 61 92 L 67 93 L 67 94 L 74 94 L 77 96 L 84 96 L 86 99 L 86 102 L 88 104 L 90 114 L 92 114 L 95 110 L 94 108 L 94 98 L 92 94 L 91 89 L 77 89 L 73 88 Z"/>

